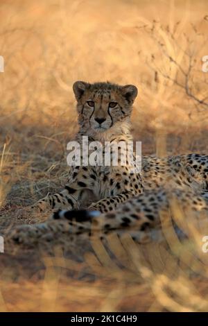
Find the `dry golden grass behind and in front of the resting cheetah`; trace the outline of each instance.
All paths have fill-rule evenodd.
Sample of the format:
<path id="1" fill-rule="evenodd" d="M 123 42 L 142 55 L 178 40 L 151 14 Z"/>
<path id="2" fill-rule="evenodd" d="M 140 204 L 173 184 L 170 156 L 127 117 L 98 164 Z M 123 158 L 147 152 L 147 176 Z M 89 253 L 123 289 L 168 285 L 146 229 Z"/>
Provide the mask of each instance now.
<path id="1" fill-rule="evenodd" d="M 144 154 L 207 152 L 208 74 L 202 73 L 207 1 L 1 0 L 0 21 L 2 232 L 42 220 L 45 216 L 18 209 L 64 185 L 66 144 L 77 130 L 75 80 L 137 85 L 133 132 Z M 207 309 L 206 268 L 200 280 L 191 280 L 182 268 L 171 283 L 175 258 L 164 263 L 168 253 L 161 248 L 135 248 L 128 241 L 128 248 L 119 246 L 125 248 L 124 260 L 132 253 L 123 270 L 112 267 L 102 250 L 97 256 L 107 259 L 102 266 L 92 253 L 80 264 L 56 253 L 61 261 L 51 264 L 58 268 L 30 251 L 1 255 L 0 309 Z M 152 259 L 144 269 L 138 250 Z"/>

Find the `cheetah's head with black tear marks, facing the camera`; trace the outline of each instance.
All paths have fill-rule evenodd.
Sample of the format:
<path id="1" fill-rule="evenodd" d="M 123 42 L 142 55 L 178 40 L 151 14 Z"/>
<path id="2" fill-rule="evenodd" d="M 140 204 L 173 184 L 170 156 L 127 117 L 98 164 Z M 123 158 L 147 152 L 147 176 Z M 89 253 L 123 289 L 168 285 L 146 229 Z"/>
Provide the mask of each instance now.
<path id="1" fill-rule="evenodd" d="M 79 122 L 87 130 L 105 132 L 130 118 L 137 87 L 77 81 L 73 84 L 73 92 L 77 101 Z"/>

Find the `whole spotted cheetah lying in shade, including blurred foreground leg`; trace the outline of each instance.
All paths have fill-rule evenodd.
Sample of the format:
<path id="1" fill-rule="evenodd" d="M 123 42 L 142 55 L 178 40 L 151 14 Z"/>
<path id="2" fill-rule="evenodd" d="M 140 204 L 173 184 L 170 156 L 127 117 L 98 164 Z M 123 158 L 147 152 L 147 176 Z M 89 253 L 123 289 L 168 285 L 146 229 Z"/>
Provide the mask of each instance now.
<path id="1" fill-rule="evenodd" d="M 132 141 L 130 116 L 137 87 L 78 81 L 73 92 L 80 125 L 76 141 L 80 146 L 83 135 L 101 143 Z M 159 216 L 161 211 L 168 212 L 171 196 L 180 201 L 185 212 L 207 212 L 208 155 L 144 156 L 141 173 L 129 173 L 129 169 L 128 164 L 72 166 L 65 189 L 49 194 L 36 205 L 40 209 L 49 205 L 58 211 L 45 223 L 20 226 L 10 238 L 16 243 L 33 243 L 47 239 L 47 234 L 89 236 L 95 224 L 102 237 L 107 232 L 128 230 L 133 239 L 143 242 L 162 234 Z M 98 201 L 82 210 L 89 195 Z"/>

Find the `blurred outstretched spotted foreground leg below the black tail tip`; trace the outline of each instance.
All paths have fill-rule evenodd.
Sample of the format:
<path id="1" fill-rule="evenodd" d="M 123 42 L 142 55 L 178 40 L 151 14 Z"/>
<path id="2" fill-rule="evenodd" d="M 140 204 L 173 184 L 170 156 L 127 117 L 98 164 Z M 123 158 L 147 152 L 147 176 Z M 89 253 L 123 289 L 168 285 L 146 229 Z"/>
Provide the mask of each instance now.
<path id="1" fill-rule="evenodd" d="M 61 211 L 63 212 L 63 211 Z M 74 211 L 67 211 L 69 213 Z M 89 213 L 85 211 L 85 213 Z M 143 221 L 143 224 L 140 226 L 138 225 L 134 228 L 125 227 L 123 228 L 121 226 L 121 220 L 115 220 L 116 224 L 120 225 L 120 228 L 115 227 L 109 227 L 108 222 L 112 222 L 110 218 L 106 218 L 105 215 L 98 216 L 98 218 L 101 218 L 102 223 L 105 221 L 105 224 L 103 224 L 103 230 L 100 228 L 101 225 L 98 225 L 98 227 L 94 227 L 92 229 L 92 220 L 94 221 L 94 224 L 96 225 L 96 215 L 99 214 L 99 212 L 90 212 L 93 214 L 92 216 L 88 216 L 91 221 L 85 221 L 83 222 L 74 222 L 70 217 L 67 217 L 67 214 L 65 214 L 64 220 L 62 221 L 47 221 L 46 223 L 40 223 L 36 225 L 21 225 L 15 230 L 12 230 L 12 232 L 5 238 L 6 243 L 12 243 L 16 245 L 23 245 L 23 246 L 37 246 L 39 243 L 40 245 L 47 244 L 51 241 L 59 241 L 61 242 L 62 234 L 67 234 L 67 243 L 70 246 L 71 241 L 74 241 L 76 237 L 82 237 L 83 239 L 89 239 L 89 237 L 96 237 L 100 239 L 105 239 L 107 234 L 110 234 L 111 232 L 116 232 L 118 237 L 123 236 L 123 234 L 129 234 L 130 237 L 137 243 L 149 243 L 150 241 L 157 241 L 161 242 L 164 241 L 164 235 L 162 234 L 161 228 L 147 228 L 146 225 L 148 225 L 148 222 Z M 84 216 L 84 215 L 83 215 Z M 62 218 L 62 216 L 61 216 Z M 104 218 L 104 219 L 103 219 Z M 69 221 L 67 221 L 69 219 Z M 126 222 L 123 222 L 123 225 L 128 225 Z"/>

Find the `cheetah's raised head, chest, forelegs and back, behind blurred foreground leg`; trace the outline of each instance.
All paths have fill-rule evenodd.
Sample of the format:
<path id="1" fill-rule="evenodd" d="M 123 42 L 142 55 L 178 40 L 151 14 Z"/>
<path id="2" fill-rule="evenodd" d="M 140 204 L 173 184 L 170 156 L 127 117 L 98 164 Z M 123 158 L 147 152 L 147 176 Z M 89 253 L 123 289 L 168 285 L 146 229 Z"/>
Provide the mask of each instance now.
<path id="1" fill-rule="evenodd" d="M 73 84 L 77 101 L 80 129 L 75 137 L 83 146 L 83 136 L 89 144 L 119 144 L 132 141 L 130 117 L 137 96 L 135 85 L 112 83 Z M 83 157 L 81 157 L 83 160 Z M 127 162 L 128 163 L 128 162 Z M 189 173 L 183 171 L 189 169 Z M 208 180 L 207 155 L 182 155 L 173 157 L 143 157 L 141 173 L 130 173 L 130 164 L 121 166 L 71 166 L 67 184 L 58 194 L 48 194 L 33 207 L 41 210 L 81 209 L 91 200 L 89 209 L 112 211 L 129 198 L 138 196 L 145 189 L 155 187 L 201 187 L 206 189 Z M 187 178 L 184 178 L 187 175 Z"/>

